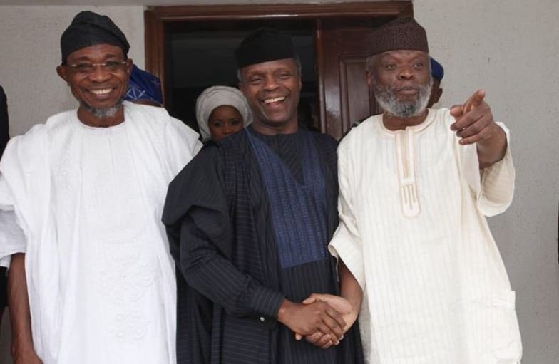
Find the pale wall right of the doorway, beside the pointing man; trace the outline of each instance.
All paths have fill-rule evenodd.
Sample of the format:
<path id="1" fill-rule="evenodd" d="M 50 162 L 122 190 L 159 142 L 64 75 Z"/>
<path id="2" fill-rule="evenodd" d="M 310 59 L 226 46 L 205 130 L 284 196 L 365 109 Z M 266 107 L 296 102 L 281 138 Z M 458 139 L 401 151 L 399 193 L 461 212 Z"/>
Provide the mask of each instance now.
<path id="1" fill-rule="evenodd" d="M 439 105 L 487 91 L 511 129 L 516 194 L 490 219 L 513 289 L 527 364 L 559 363 L 559 2 L 417 0 L 431 55 L 445 68 Z"/>

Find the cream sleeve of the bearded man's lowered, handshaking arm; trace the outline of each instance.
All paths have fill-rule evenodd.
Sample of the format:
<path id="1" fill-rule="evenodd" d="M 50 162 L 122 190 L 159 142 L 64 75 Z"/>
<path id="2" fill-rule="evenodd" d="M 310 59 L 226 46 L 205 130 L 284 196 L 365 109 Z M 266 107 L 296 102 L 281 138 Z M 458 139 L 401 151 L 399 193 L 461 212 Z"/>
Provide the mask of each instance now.
<path id="1" fill-rule="evenodd" d="M 344 145 L 347 144 L 342 144 L 338 148 L 339 225 L 336 232 L 334 232 L 328 249 L 333 256 L 344 261 L 349 271 L 357 279 L 359 286 L 364 290 L 363 244 L 352 207 L 351 162 L 346 158 L 343 150 Z"/>

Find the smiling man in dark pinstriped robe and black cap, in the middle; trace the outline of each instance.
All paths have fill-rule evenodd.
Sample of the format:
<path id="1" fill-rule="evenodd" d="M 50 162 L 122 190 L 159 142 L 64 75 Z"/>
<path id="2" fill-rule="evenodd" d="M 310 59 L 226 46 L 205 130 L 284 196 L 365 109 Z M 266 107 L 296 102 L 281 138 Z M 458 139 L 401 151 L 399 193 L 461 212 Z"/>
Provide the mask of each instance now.
<path id="1" fill-rule="evenodd" d="M 206 145 L 169 185 L 163 210 L 188 284 L 178 363 L 363 363 L 353 325 L 361 289 L 327 250 L 337 142 L 299 128 L 289 36 L 259 29 L 235 56 L 254 120 Z M 312 293 L 333 296 L 304 304 Z"/>

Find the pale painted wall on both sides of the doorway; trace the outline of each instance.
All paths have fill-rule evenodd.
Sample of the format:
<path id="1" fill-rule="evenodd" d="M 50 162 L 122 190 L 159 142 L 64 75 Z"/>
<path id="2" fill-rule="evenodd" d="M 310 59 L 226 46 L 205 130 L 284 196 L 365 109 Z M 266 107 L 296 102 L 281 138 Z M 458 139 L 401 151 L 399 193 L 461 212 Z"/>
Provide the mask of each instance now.
<path id="1" fill-rule="evenodd" d="M 61 31 L 81 9 L 0 6 L 0 84 L 14 135 L 76 107 L 54 68 Z M 128 36 L 130 56 L 143 66 L 142 7 L 91 9 L 111 14 Z M 445 67 L 439 105 L 461 103 L 483 88 L 496 119 L 511 128 L 516 197 L 490 223 L 517 291 L 523 363 L 559 363 L 559 2 L 416 0 L 414 11 Z"/>

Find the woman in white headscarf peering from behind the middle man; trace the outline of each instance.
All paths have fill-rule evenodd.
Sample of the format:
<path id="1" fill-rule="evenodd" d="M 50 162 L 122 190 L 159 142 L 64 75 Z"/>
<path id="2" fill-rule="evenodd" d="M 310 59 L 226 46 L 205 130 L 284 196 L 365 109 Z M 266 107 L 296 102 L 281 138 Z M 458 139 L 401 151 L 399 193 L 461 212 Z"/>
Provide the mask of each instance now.
<path id="1" fill-rule="evenodd" d="M 196 120 L 202 141 L 222 140 L 252 123 L 245 96 L 237 88 L 212 86 L 196 100 Z"/>

